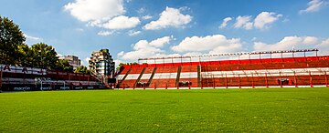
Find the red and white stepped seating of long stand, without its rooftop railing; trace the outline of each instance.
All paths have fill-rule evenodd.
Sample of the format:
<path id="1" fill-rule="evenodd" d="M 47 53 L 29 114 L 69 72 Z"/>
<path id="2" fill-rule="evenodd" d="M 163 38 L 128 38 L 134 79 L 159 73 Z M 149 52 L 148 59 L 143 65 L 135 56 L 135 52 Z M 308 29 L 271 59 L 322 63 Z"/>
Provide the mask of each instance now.
<path id="1" fill-rule="evenodd" d="M 302 56 L 124 66 L 118 79 L 129 73 L 120 88 L 137 80 L 146 88 L 324 86 L 326 72 L 329 56 Z"/>

